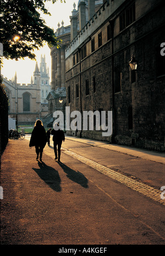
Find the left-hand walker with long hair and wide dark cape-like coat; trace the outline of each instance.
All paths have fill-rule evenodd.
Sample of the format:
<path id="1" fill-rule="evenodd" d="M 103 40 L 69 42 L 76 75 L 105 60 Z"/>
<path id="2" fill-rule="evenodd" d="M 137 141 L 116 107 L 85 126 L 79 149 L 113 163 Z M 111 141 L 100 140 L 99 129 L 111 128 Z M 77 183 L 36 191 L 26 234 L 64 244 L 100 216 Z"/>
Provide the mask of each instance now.
<path id="1" fill-rule="evenodd" d="M 38 119 L 31 133 L 29 147 L 35 146 L 36 154 L 37 154 L 36 159 L 38 159 L 38 156 L 40 154 L 40 161 L 42 161 L 43 148 L 45 147 L 46 142 L 47 142 L 47 136 L 46 136 L 45 128 L 43 127 L 42 121 Z"/>

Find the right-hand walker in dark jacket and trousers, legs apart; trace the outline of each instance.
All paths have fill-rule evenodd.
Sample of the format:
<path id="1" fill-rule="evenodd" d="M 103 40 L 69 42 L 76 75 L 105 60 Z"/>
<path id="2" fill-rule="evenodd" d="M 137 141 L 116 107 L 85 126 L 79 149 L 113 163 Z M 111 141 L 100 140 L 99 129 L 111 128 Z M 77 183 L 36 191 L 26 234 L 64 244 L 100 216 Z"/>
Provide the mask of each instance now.
<path id="1" fill-rule="evenodd" d="M 55 160 L 57 159 L 57 146 L 58 146 L 58 162 L 61 162 L 60 161 L 61 145 L 62 145 L 62 142 L 65 141 L 65 135 L 63 130 L 60 129 L 59 124 L 57 122 L 53 125 L 51 134 L 53 135 L 53 146 L 54 146 L 54 154 L 55 154 L 54 159 Z"/>

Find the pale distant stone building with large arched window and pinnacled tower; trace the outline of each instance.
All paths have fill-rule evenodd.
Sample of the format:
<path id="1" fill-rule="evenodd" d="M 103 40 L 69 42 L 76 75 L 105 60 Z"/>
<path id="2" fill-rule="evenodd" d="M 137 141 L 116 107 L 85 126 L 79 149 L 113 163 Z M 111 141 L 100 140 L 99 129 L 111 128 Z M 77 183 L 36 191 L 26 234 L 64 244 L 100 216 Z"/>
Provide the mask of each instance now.
<path id="1" fill-rule="evenodd" d="M 8 114 L 18 115 L 18 125 L 33 125 L 36 119 L 42 119 L 48 113 L 46 97 L 50 92 L 50 77 L 46 68 L 45 56 L 41 55 L 40 70 L 36 62 L 30 84 L 17 83 L 17 74 L 13 81 L 3 77 L 5 92 L 8 95 Z"/>

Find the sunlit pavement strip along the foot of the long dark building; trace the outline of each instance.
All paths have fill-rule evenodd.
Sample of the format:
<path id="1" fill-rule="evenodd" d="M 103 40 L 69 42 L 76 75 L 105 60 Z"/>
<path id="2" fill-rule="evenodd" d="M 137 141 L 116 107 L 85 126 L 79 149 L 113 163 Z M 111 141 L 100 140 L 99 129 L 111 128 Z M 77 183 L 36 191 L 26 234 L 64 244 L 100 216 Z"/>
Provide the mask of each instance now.
<path id="1" fill-rule="evenodd" d="M 113 145 L 105 141 L 90 140 L 89 138 L 79 138 L 73 136 L 65 136 L 65 138 L 67 138 L 67 140 L 89 144 L 90 146 L 102 147 L 106 148 L 107 150 L 113 150 L 120 153 L 129 154 L 130 156 L 140 157 L 142 159 L 165 164 L 165 153 L 143 150 L 136 147 Z"/>

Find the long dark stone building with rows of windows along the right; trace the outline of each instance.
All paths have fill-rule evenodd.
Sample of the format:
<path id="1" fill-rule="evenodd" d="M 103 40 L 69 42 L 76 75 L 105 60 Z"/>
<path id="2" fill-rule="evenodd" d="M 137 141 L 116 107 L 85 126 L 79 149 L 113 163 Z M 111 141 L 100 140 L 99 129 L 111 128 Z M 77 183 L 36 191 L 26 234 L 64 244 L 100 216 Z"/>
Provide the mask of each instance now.
<path id="1" fill-rule="evenodd" d="M 82 19 L 85 3 L 79 3 Z M 87 23 L 81 20 L 85 25 L 65 50 L 66 104 L 81 114 L 112 111 L 113 132 L 102 136 L 94 126 L 76 135 L 164 151 L 164 11 L 162 0 L 105 0 Z M 136 70 L 129 66 L 131 56 Z"/>

